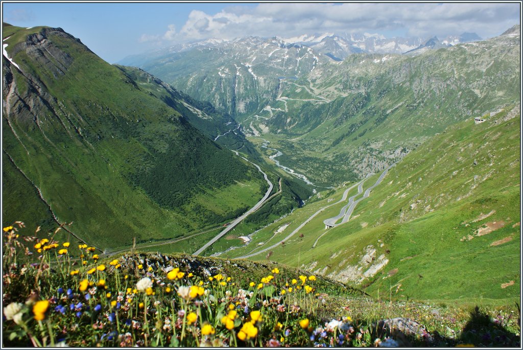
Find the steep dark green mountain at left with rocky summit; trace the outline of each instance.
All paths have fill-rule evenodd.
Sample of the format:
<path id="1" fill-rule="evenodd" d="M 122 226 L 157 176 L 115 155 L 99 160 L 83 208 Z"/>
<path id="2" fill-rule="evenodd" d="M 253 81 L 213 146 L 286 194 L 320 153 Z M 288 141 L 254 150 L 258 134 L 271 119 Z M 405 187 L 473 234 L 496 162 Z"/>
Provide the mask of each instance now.
<path id="1" fill-rule="evenodd" d="M 47 208 L 104 249 L 183 235 L 261 198 L 257 169 L 191 126 L 214 118 L 205 106 L 160 81 L 145 87 L 60 28 L 5 26 L 3 45 L 6 222 L 38 205 L 35 224 Z M 20 207 L 23 193 L 33 195 Z"/>

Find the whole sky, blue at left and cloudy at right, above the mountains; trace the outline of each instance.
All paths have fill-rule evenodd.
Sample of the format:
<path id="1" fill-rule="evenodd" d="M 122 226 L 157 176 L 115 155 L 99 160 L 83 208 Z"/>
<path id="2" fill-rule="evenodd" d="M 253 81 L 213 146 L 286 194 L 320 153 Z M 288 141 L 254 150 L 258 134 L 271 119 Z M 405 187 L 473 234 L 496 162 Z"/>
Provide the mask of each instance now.
<path id="1" fill-rule="evenodd" d="M 519 3 L 2 3 L 14 26 L 60 27 L 109 63 L 208 38 L 324 32 L 491 38 L 520 22 Z"/>

